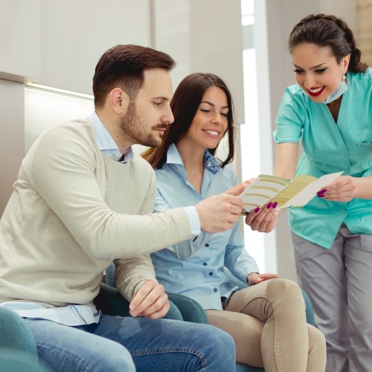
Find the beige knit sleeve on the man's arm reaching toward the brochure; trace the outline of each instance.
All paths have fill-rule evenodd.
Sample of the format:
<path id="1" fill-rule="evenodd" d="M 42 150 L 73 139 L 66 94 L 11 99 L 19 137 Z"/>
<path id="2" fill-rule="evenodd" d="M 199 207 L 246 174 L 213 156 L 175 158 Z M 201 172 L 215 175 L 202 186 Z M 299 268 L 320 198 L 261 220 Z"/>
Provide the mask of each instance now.
<path id="1" fill-rule="evenodd" d="M 41 136 L 25 166 L 31 187 L 88 256 L 131 258 L 191 236 L 183 208 L 144 216 L 113 211 L 97 183 L 97 157 L 84 127 L 61 125 Z"/>

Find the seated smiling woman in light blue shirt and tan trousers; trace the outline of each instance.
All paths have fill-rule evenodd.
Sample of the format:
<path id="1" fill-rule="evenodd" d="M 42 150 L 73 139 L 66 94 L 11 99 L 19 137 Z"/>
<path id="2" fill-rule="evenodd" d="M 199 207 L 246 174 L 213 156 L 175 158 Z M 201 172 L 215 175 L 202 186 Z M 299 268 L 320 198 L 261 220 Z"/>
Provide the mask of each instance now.
<path id="1" fill-rule="evenodd" d="M 226 190 L 242 192 L 246 184 L 237 185 L 228 165 L 234 158 L 234 110 L 225 83 L 214 74 L 191 74 L 178 85 L 171 107 L 174 123 L 163 145 L 143 154 L 156 172 L 155 211 L 195 205 Z M 229 154 L 220 161 L 214 154 L 225 135 Z M 271 216 L 275 208 L 265 213 Z M 151 256 L 166 291 L 200 302 L 209 323 L 233 336 L 238 362 L 265 366 L 266 371 L 324 371 L 324 336 L 306 323 L 300 288 L 276 274 L 258 273 L 238 224 Z M 224 266 L 249 287 L 234 286 Z"/>

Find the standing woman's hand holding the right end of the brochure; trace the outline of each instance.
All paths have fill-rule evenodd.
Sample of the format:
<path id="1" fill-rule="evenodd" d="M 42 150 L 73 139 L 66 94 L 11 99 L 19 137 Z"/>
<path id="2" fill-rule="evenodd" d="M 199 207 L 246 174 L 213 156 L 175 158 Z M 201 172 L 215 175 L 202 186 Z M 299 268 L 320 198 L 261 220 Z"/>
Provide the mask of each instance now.
<path id="1" fill-rule="evenodd" d="M 327 190 L 327 191 L 323 191 Z M 356 185 L 351 176 L 338 176 L 328 186 L 318 192 L 320 198 L 331 201 L 350 201 L 355 194 Z"/>

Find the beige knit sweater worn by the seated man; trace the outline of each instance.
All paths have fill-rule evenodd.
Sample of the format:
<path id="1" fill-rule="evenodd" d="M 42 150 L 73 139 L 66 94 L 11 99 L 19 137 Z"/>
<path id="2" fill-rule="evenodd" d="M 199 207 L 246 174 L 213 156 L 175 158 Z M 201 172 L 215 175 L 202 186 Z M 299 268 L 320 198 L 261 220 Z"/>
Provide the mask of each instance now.
<path id="1" fill-rule="evenodd" d="M 87 120 L 42 134 L 0 220 L 0 302 L 92 305 L 115 258 L 130 300 L 155 279 L 147 254 L 191 235 L 185 209 L 152 214 L 155 182 L 140 156 L 123 165 L 103 155 Z"/>

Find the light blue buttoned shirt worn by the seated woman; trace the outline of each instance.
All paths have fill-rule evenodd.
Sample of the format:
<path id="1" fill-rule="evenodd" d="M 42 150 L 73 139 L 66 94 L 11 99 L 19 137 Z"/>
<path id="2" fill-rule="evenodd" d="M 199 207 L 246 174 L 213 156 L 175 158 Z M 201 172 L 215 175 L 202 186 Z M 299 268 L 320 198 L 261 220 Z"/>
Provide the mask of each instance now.
<path id="1" fill-rule="evenodd" d="M 205 170 L 200 194 L 187 180 L 187 172 L 176 146 L 169 147 L 167 162 L 156 169 L 158 187 L 155 211 L 196 205 L 209 196 L 221 194 L 235 186 L 236 174 L 224 168 L 205 152 Z M 204 309 L 222 309 L 221 297 L 229 298 L 238 287 L 223 271 L 227 266 L 234 276 L 247 282 L 247 275 L 258 272 L 256 260 L 249 256 L 238 224 L 217 234 L 202 232 L 198 238 L 179 242 L 151 254 L 156 278 L 166 291 L 194 298 Z"/>

